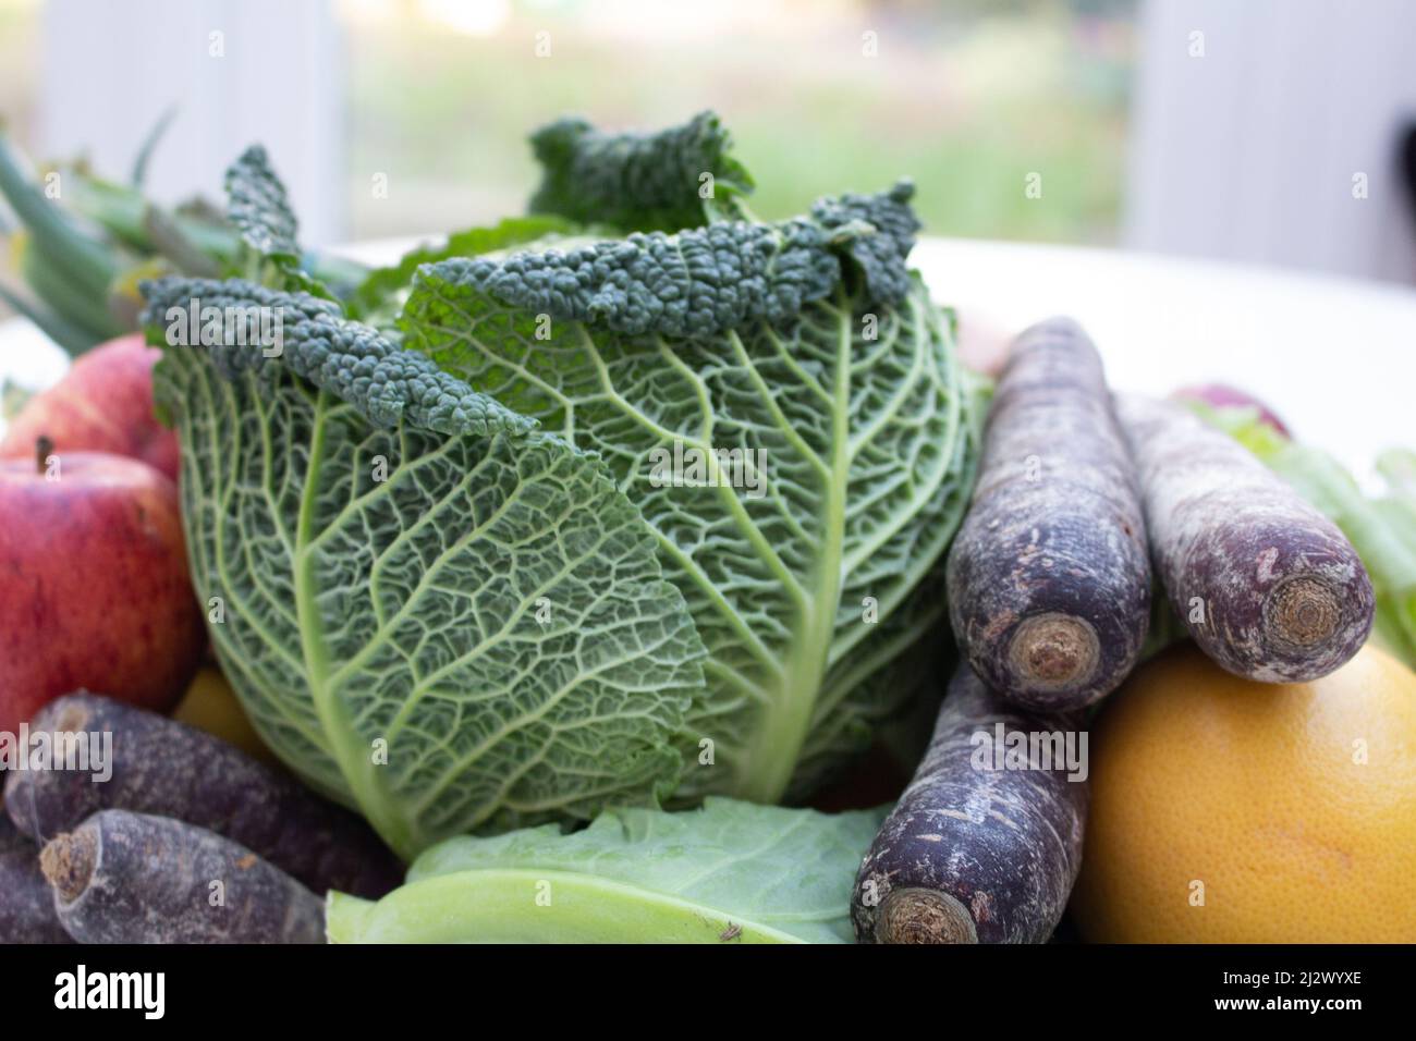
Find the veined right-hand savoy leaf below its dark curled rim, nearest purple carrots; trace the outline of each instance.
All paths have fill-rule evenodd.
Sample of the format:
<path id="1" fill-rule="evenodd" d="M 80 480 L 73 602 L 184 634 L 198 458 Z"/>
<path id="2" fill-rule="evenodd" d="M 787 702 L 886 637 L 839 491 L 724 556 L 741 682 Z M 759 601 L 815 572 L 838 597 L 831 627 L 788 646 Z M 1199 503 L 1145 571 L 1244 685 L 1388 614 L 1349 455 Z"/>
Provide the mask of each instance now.
<path id="1" fill-rule="evenodd" d="M 598 453 L 653 531 L 708 647 L 683 797 L 804 795 L 918 688 L 910 652 L 943 616 L 976 432 L 925 288 L 871 307 L 841 292 L 714 339 L 576 323 L 537 339 L 534 314 L 438 265 L 415 282 L 405 343 Z M 666 482 L 651 453 L 678 446 L 763 459 L 763 494 Z"/>

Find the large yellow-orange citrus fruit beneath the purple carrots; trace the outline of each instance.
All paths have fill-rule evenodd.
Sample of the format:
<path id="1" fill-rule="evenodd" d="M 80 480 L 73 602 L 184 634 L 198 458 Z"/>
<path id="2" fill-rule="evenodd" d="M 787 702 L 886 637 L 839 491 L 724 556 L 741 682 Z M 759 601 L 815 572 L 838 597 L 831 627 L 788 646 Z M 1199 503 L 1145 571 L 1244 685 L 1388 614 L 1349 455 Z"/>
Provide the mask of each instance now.
<path id="1" fill-rule="evenodd" d="M 1416 673 L 1386 653 L 1279 686 L 1177 647 L 1089 751 L 1086 939 L 1416 940 Z"/>

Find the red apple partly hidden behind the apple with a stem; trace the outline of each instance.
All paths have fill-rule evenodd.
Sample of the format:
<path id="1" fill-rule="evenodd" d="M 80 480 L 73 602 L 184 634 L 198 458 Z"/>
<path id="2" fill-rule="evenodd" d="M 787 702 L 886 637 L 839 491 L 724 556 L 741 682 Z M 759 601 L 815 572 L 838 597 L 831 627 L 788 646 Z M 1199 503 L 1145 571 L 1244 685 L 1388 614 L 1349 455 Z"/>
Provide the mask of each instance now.
<path id="1" fill-rule="evenodd" d="M 47 436 L 59 452 L 110 452 L 142 459 L 177 480 L 177 433 L 153 415 L 153 365 L 163 355 L 142 333 L 84 354 L 11 421 L 0 456 L 30 459 Z"/>

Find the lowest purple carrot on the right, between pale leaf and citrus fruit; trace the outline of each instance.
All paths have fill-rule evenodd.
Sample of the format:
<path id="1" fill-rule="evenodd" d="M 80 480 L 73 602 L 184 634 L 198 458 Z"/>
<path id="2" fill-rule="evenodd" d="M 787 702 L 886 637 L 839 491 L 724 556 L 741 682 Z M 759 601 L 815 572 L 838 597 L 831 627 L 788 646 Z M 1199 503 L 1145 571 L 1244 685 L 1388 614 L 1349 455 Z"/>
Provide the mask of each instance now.
<path id="1" fill-rule="evenodd" d="M 1045 942 L 1082 865 L 1087 786 L 1079 718 L 1018 712 L 961 664 L 915 779 L 861 864 L 851 899 L 855 938 Z M 1018 739 L 1027 751 L 1015 751 Z"/>

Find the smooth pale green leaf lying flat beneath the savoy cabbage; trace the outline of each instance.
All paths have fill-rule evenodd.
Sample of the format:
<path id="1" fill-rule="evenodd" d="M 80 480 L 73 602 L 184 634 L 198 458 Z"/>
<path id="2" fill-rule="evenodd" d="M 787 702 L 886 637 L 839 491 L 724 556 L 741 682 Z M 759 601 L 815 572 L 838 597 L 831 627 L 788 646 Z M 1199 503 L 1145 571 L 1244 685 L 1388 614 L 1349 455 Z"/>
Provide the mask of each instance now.
<path id="1" fill-rule="evenodd" d="M 329 897 L 336 943 L 848 943 L 851 884 L 884 810 L 708 799 L 452 838 L 382 899 Z"/>

